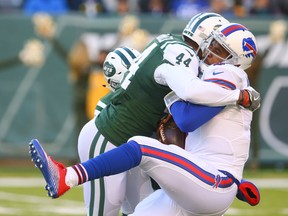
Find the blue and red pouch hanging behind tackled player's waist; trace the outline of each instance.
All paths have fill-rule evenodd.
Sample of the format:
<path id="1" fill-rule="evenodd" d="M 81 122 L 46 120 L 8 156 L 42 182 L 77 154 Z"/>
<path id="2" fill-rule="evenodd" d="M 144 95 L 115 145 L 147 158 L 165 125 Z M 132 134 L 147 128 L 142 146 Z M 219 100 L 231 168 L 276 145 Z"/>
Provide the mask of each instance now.
<path id="1" fill-rule="evenodd" d="M 252 182 L 242 179 L 241 182 L 238 181 L 231 173 L 219 170 L 229 178 L 232 178 L 234 183 L 238 186 L 238 191 L 236 197 L 244 202 L 249 203 L 251 206 L 256 206 L 260 202 L 260 192 L 256 185 Z"/>

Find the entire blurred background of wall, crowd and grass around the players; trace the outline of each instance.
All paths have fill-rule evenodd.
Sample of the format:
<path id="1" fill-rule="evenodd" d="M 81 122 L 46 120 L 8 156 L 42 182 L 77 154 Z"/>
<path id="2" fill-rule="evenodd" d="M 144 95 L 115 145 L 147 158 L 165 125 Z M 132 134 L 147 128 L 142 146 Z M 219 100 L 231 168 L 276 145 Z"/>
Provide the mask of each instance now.
<path id="1" fill-rule="evenodd" d="M 199 2 L 208 2 L 210 7 L 214 3 L 218 9 L 199 5 L 244 24 L 258 41 L 259 56 L 247 73 L 262 95 L 262 106 L 253 120 L 245 175 L 260 185 L 262 202 L 250 207 L 236 201 L 227 215 L 288 215 L 287 1 L 262 1 L 269 4 L 258 13 L 254 8 L 258 0 L 190 1 L 194 5 L 186 9 L 193 9 L 192 15 L 188 9 L 164 7 L 161 12 L 147 4 L 164 2 L 167 6 L 172 0 L 147 0 L 146 11 L 145 1 L 87 1 L 94 2 L 90 7 L 71 0 L 67 1 L 70 8 L 59 6 L 61 10 L 41 5 L 29 8 L 29 2 L 33 3 L 0 0 L 0 215 L 84 215 L 81 188 L 61 201 L 44 196 L 39 189 L 44 182 L 32 169 L 28 142 L 38 138 L 67 165 L 77 162 L 79 129 L 107 92 L 101 73 L 105 53 L 119 45 L 142 50 L 158 34 L 181 33 L 201 9 L 196 7 Z M 103 2 L 116 6 L 126 2 L 128 9 L 126 5 L 126 11 L 119 7 L 104 11 L 103 5 L 109 4 Z M 136 11 L 135 2 L 144 9 Z M 272 10 L 276 4 L 281 10 Z"/>

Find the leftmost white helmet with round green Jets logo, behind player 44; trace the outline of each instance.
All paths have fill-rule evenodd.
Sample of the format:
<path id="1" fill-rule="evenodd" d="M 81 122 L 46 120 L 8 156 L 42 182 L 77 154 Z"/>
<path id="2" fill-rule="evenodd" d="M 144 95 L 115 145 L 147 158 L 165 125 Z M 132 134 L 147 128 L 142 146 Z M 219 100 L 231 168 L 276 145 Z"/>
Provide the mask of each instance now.
<path id="1" fill-rule="evenodd" d="M 111 91 L 115 91 L 120 86 L 124 73 L 139 54 L 139 51 L 129 47 L 119 47 L 108 53 L 103 64 L 103 71 Z"/>

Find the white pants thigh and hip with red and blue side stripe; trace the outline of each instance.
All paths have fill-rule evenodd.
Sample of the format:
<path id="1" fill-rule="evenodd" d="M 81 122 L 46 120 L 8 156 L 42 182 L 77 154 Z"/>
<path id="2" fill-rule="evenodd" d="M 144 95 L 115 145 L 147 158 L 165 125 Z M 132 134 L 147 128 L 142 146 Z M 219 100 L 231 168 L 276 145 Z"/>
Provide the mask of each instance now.
<path id="1" fill-rule="evenodd" d="M 131 139 L 141 147 L 139 167 L 179 204 L 183 214 L 222 215 L 233 202 L 236 184 L 213 164 L 175 145 L 163 145 L 155 139 L 142 136 Z M 145 211 L 148 215 L 153 214 L 153 210 Z"/>

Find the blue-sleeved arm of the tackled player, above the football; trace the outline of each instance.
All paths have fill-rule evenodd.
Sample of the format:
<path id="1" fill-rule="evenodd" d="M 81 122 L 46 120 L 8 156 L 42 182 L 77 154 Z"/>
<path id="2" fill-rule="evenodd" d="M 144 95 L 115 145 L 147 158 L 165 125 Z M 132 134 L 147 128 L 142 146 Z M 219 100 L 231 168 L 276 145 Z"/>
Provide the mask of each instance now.
<path id="1" fill-rule="evenodd" d="M 176 101 L 170 105 L 170 113 L 182 132 L 192 132 L 208 122 L 224 109 L 224 106 L 209 107 Z"/>

